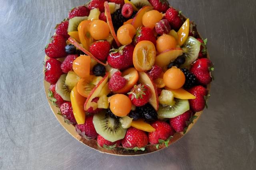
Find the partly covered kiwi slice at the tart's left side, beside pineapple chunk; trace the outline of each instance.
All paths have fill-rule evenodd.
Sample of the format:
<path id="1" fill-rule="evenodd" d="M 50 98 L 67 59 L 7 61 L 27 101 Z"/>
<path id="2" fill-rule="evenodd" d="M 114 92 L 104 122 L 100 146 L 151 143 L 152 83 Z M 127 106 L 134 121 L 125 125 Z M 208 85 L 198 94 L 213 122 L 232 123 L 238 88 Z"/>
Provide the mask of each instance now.
<path id="1" fill-rule="evenodd" d="M 70 102 L 71 101 L 70 100 L 70 92 L 72 89 L 70 89 L 65 84 L 66 76 L 67 76 L 67 74 L 62 74 L 60 76 L 59 80 L 56 82 L 55 91 L 62 97 L 63 100 Z"/>

